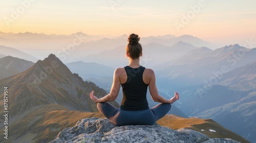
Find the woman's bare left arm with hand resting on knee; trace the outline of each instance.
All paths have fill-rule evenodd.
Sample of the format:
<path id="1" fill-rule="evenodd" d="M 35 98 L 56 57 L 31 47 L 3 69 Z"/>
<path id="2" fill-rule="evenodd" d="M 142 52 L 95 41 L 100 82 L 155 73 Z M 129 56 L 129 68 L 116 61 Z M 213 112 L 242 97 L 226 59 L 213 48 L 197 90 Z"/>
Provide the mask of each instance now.
<path id="1" fill-rule="evenodd" d="M 95 103 L 99 103 L 99 102 L 109 102 L 109 101 L 114 101 L 116 100 L 117 96 L 118 96 L 118 92 L 120 89 L 120 69 L 117 68 L 114 72 L 114 77 L 113 77 L 113 84 L 110 90 L 110 93 L 106 96 L 104 96 L 103 98 L 98 99 L 97 97 L 95 97 L 93 95 L 94 91 L 91 92 L 90 94 L 90 98 L 95 102 Z"/>

